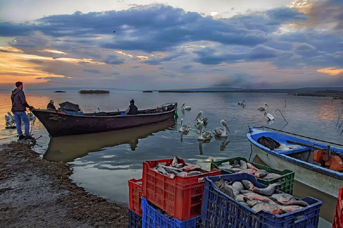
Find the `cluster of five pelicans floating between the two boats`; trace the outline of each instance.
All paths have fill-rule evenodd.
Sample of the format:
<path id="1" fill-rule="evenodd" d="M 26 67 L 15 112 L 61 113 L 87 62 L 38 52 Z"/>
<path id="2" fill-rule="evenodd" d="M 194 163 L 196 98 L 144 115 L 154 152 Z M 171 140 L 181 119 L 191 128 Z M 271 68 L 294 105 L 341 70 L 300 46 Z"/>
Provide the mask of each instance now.
<path id="1" fill-rule="evenodd" d="M 182 104 L 181 107 L 182 110 L 190 110 L 190 106 L 185 106 L 185 103 Z M 212 137 L 212 132 L 211 131 L 204 131 L 204 123 L 207 123 L 208 118 L 206 116 L 202 116 L 202 111 L 199 112 L 197 117 L 194 119 L 194 121 L 197 121 L 198 124 L 200 124 L 200 131 L 199 131 L 199 140 L 208 140 Z M 214 134 L 219 137 L 226 137 L 227 136 L 227 131 L 231 134 L 229 128 L 227 127 L 224 119 L 220 121 L 220 124 L 222 127 L 217 127 L 214 130 Z M 184 124 L 184 118 L 181 118 L 181 126 L 179 128 L 179 132 L 188 132 L 189 131 L 189 126 Z"/>

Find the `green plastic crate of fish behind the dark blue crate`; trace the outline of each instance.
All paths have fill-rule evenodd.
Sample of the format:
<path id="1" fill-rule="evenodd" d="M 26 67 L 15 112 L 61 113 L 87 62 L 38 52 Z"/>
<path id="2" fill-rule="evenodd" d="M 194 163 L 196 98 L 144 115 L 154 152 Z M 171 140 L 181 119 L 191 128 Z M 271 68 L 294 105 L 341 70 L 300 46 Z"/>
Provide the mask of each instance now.
<path id="1" fill-rule="evenodd" d="M 212 162 L 211 163 L 211 169 L 213 169 L 213 168 L 220 169 L 218 167 L 218 165 L 221 165 L 221 164 L 226 163 L 226 162 L 233 164 L 235 160 L 237 160 L 237 161 L 243 160 L 245 162 L 248 162 L 248 160 L 245 159 L 244 157 L 234 157 L 232 159 L 225 159 L 225 160 L 221 160 L 221 161 L 217 161 L 217 162 Z M 278 178 L 275 178 L 272 180 L 262 180 L 261 178 L 257 178 L 258 182 L 263 183 L 264 185 L 268 186 L 271 183 L 276 183 L 276 182 L 279 182 L 280 180 L 283 180 L 281 185 L 276 186 L 276 189 L 279 191 L 288 193 L 288 194 L 293 193 L 294 171 L 288 170 L 288 169 L 280 171 L 277 169 L 270 168 L 268 166 L 264 166 L 264 165 L 260 165 L 260 164 L 256 164 L 256 163 L 252 163 L 252 162 L 249 162 L 249 163 L 258 169 L 264 169 L 268 173 L 276 173 L 276 174 L 281 175 L 281 177 L 278 177 Z M 226 170 L 223 170 L 223 169 L 220 169 L 220 170 L 222 171 L 222 174 L 232 174 L 231 172 L 228 172 Z"/>

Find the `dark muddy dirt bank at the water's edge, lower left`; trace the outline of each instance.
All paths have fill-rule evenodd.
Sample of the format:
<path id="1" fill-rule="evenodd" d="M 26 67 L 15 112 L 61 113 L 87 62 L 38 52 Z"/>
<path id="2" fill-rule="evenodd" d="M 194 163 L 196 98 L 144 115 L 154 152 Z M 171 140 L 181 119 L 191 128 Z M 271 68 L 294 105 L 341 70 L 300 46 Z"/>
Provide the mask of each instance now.
<path id="1" fill-rule="evenodd" d="M 128 208 L 85 192 L 72 167 L 12 142 L 0 145 L 0 227 L 128 227 Z"/>

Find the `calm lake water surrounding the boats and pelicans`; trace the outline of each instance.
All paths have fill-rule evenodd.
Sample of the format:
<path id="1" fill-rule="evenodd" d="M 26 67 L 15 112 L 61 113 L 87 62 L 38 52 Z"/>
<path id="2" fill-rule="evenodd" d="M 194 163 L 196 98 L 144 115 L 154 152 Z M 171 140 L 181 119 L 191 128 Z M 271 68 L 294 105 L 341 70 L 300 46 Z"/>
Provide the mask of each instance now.
<path id="1" fill-rule="evenodd" d="M 0 114 L 11 110 L 10 91 L 0 91 Z M 54 93 L 50 91 L 25 91 L 27 102 L 35 108 L 45 109 L 50 99 L 59 103 L 70 101 L 79 104 L 84 112 L 124 111 L 131 99 L 139 109 L 164 103 L 178 102 L 178 119 L 131 129 L 97 134 L 50 138 L 44 126 L 36 119 L 32 124 L 37 140 L 34 150 L 51 161 L 74 164 L 72 178 L 86 191 L 110 201 L 128 203 L 128 182 L 142 177 L 142 162 L 173 158 L 178 155 L 188 164 L 200 164 L 210 170 L 210 161 L 242 156 L 249 159 L 251 148 L 246 137 L 248 126 L 267 126 L 294 134 L 343 143 L 343 106 L 332 97 L 297 97 L 273 93 L 143 93 L 138 91 L 111 91 L 109 94 L 80 94 L 78 91 Z M 245 99 L 246 105 L 237 105 Z M 192 107 L 181 111 L 181 105 Z M 258 107 L 269 105 L 267 111 Z M 279 109 L 284 116 L 282 117 Z M 203 111 L 208 118 L 204 129 L 214 131 L 224 119 L 232 133 L 227 138 L 212 137 L 209 142 L 198 141 L 199 125 L 195 117 Z M 275 120 L 267 122 L 267 113 Z M 3 117 L 1 117 L 3 118 Z M 181 118 L 190 125 L 188 134 L 178 132 Z M 288 124 L 287 124 L 287 122 Z M 0 122 L 1 143 L 17 140 L 16 129 L 5 129 Z M 23 127 L 22 127 L 23 129 Z M 258 161 L 255 154 L 250 161 Z M 315 181 L 315 180 L 314 180 Z M 338 191 L 338 189 L 337 189 Z M 320 216 L 332 222 L 337 199 L 295 181 L 294 195 L 309 195 L 323 201 Z M 321 220 L 320 227 L 330 227 Z"/>

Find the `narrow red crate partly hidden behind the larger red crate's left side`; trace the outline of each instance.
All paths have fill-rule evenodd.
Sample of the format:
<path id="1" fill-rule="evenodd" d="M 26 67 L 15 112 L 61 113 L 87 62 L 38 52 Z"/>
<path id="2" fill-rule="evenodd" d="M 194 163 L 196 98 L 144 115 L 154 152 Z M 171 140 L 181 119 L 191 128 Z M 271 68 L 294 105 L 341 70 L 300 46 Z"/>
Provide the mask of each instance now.
<path id="1" fill-rule="evenodd" d="M 138 214 L 139 216 L 142 216 L 142 186 L 138 185 L 136 182 L 141 181 L 142 179 L 136 180 L 131 179 L 129 181 L 129 207 L 130 209 Z"/>

